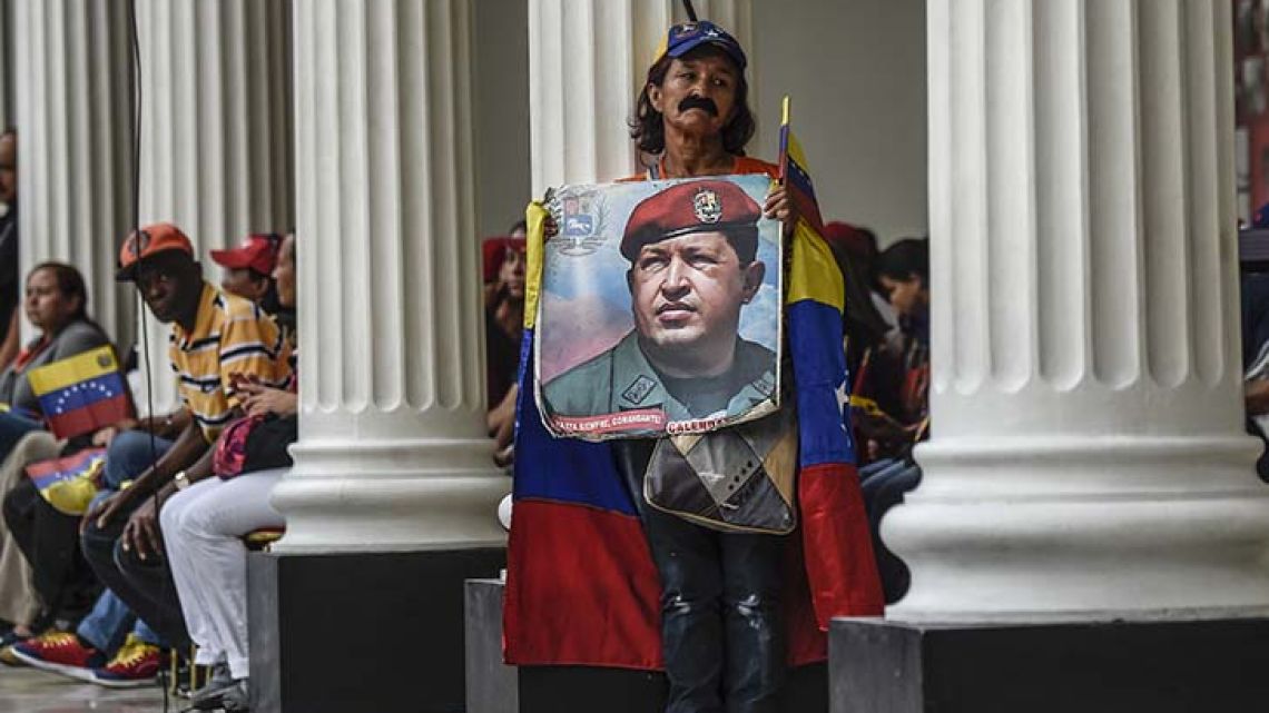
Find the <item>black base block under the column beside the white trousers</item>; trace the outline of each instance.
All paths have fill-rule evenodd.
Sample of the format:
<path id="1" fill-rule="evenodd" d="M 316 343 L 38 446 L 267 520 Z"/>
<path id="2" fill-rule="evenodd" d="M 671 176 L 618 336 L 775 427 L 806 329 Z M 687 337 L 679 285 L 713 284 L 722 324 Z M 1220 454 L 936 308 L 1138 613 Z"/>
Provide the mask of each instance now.
<path id="1" fill-rule="evenodd" d="M 251 554 L 251 710 L 462 712 L 463 581 L 505 566 L 501 548 Z"/>

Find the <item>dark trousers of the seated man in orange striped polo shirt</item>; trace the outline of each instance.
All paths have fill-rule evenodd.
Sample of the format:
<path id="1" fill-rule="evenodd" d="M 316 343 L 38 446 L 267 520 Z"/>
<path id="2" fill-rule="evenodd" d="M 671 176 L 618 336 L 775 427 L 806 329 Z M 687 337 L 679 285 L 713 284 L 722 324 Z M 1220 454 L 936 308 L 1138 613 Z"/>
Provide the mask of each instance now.
<path id="1" fill-rule="evenodd" d="M 135 509 L 136 506 L 131 510 Z M 162 637 L 165 644 L 189 647 L 189 632 L 185 629 L 185 618 L 166 556 L 160 552 L 141 559 L 136 551 L 123 549 L 121 535 L 128 523 L 128 514 L 115 518 L 105 528 L 90 523 L 80 538 L 84 556 L 102 584 Z"/>

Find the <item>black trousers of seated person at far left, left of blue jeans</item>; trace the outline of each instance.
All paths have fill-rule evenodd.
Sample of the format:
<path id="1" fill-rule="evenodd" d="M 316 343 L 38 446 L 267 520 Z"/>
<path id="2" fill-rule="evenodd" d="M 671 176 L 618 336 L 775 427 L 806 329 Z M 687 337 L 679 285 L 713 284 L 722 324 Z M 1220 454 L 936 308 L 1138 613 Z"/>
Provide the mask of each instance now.
<path id="1" fill-rule="evenodd" d="M 100 586 L 80 551 L 80 518 L 58 511 L 24 480 L 5 496 L 4 520 L 30 565 L 43 618 L 82 615 Z"/>

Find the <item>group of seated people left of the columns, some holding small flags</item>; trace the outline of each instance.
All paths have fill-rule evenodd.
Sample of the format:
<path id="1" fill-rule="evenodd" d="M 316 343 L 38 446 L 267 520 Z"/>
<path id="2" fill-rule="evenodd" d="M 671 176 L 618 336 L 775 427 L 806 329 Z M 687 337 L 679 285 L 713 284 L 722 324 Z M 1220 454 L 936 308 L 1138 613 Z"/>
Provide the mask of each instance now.
<path id="1" fill-rule="evenodd" d="M 289 235 L 213 251 L 225 269 L 217 288 L 176 226 L 129 235 L 117 278 L 170 325 L 181 409 L 132 417 L 121 387 L 119 417 L 85 410 L 74 433 L 57 433 L 70 421 L 48 412 L 34 384 L 56 370 L 74 374 L 70 391 L 98 388 L 75 382 L 67 364 L 109 351 L 109 339 L 89 318 L 74 266 L 46 263 L 27 275 L 20 306 L 38 334 L 0 373 L 0 618 L 9 624 L 0 661 L 131 688 L 155 684 L 165 650 L 195 644 L 194 664 L 212 667 L 195 705 L 246 709 L 242 538 L 284 527 L 268 496 L 297 436 L 294 334 L 279 326 L 293 324 L 294 254 Z M 91 379 L 119 369 L 118 359 L 98 364 Z M 114 376 L 110 383 L 124 383 Z M 60 469 L 66 462 L 85 467 Z M 56 477 L 34 476 L 46 464 Z"/>

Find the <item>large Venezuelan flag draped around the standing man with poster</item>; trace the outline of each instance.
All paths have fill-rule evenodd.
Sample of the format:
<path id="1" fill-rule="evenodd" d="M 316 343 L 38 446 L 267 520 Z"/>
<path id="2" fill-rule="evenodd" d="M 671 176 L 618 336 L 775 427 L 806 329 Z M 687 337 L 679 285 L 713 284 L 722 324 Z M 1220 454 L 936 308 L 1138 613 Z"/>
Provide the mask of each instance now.
<path id="1" fill-rule="evenodd" d="M 612 447 L 553 439 L 534 402 L 544 219 L 541 206 L 529 207 L 506 661 L 660 669 L 660 580 Z M 841 273 L 805 219 L 791 246 L 786 318 L 801 429 L 801 527 L 789 542 L 784 600 L 789 662 L 798 665 L 826 658 L 830 618 L 879 615 L 883 603 L 846 422 Z"/>

